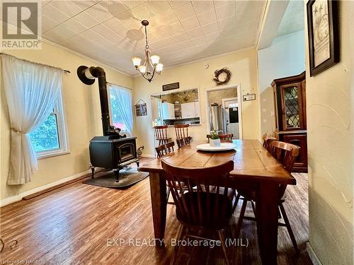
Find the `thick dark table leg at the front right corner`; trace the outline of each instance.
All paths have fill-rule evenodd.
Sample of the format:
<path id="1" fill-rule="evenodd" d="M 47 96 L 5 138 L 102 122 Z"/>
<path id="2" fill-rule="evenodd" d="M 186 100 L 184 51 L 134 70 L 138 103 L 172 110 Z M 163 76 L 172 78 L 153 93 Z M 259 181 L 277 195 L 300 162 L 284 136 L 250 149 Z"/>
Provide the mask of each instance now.
<path id="1" fill-rule="evenodd" d="M 277 264 L 279 185 L 261 182 L 256 201 L 258 246 L 263 265 Z"/>

